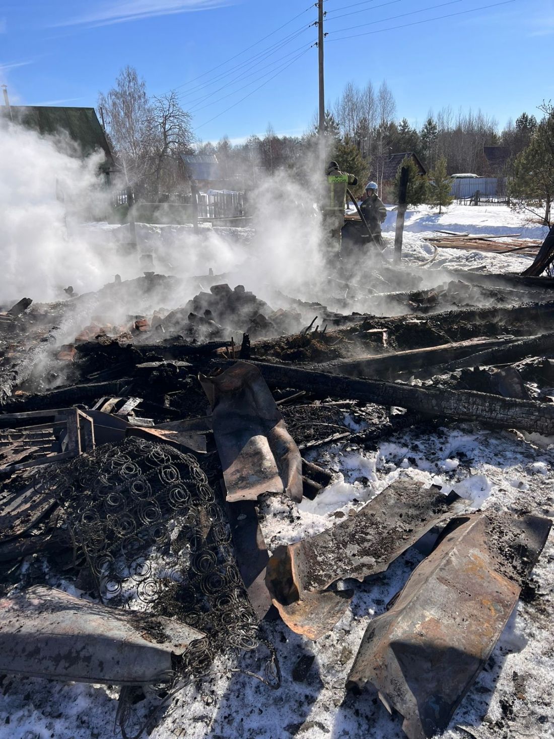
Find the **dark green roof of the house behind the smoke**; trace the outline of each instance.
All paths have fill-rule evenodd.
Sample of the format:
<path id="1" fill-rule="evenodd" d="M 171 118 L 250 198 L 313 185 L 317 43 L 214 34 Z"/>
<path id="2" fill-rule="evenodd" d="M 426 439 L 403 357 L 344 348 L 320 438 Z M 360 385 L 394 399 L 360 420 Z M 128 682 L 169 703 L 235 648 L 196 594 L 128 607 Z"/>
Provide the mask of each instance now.
<path id="1" fill-rule="evenodd" d="M 0 117 L 10 118 L 43 135 L 66 132 L 78 143 L 83 156 L 102 149 L 109 164 L 113 163 L 106 134 L 94 108 L 58 108 L 53 106 L 0 106 Z"/>

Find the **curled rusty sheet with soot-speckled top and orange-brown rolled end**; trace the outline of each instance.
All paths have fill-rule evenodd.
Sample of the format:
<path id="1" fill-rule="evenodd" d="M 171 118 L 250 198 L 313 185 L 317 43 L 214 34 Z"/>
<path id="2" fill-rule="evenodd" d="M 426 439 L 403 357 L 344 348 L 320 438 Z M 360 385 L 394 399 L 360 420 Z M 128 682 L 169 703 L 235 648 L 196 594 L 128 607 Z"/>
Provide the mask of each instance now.
<path id="1" fill-rule="evenodd" d="M 267 565 L 267 588 L 285 623 L 317 639 L 332 629 L 352 599 L 326 590 L 338 579 L 363 580 L 383 572 L 431 528 L 465 508 L 456 494 L 402 478 L 356 514 L 315 537 L 276 550 Z"/>

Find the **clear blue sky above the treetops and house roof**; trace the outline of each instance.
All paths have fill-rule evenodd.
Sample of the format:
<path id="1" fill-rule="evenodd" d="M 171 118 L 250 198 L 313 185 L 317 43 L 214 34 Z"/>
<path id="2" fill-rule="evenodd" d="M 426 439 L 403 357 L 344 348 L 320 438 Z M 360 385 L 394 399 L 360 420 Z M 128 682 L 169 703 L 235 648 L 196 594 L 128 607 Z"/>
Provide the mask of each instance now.
<path id="1" fill-rule="evenodd" d="M 348 81 L 386 79 L 419 125 L 445 105 L 501 126 L 536 112 L 554 98 L 554 0 L 498 3 L 326 0 L 327 106 Z M 178 88 L 202 140 L 301 134 L 318 106 L 316 19 L 310 0 L 3 0 L 0 83 L 14 104 L 95 106 L 131 64 L 149 93 Z"/>

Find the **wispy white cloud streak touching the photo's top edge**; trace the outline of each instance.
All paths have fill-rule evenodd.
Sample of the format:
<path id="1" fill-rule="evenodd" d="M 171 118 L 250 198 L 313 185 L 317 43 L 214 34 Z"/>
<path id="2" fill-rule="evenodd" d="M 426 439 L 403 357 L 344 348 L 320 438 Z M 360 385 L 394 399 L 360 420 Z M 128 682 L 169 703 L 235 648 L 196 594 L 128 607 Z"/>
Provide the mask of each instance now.
<path id="1" fill-rule="evenodd" d="M 171 16 L 176 13 L 194 13 L 230 5 L 232 0 L 115 0 L 103 2 L 92 13 L 52 24 L 59 26 L 109 26 L 142 18 Z"/>

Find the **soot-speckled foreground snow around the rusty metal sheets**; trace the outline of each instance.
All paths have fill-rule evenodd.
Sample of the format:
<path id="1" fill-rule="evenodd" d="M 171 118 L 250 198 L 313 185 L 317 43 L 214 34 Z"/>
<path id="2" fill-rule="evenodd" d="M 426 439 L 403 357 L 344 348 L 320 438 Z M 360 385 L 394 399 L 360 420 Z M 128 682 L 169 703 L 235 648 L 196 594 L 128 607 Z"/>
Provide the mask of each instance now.
<path id="1" fill-rule="evenodd" d="M 554 451 L 524 437 L 469 424 L 456 429 L 410 429 L 369 449 L 329 445 L 312 458 L 335 471 L 317 503 L 298 506 L 292 522 L 279 514 L 290 505 L 269 500 L 262 528 L 270 546 L 322 531 L 378 494 L 400 475 L 458 491 L 495 511 L 521 508 L 552 515 Z M 273 515 L 275 514 L 275 516 Z M 279 518 L 277 518 L 279 516 Z M 213 675 L 174 699 L 151 739 L 401 739 L 401 719 L 391 718 L 375 695 L 356 698 L 344 684 L 372 616 L 383 613 L 423 555 L 411 548 L 388 571 L 366 582 L 347 581 L 355 598 L 335 629 L 317 642 L 290 632 L 281 621 L 264 625 L 276 645 L 283 673 L 272 690 L 244 675 Z M 520 600 L 496 645 L 445 733 L 447 739 L 543 738 L 554 726 L 551 664 L 554 654 L 553 537 L 533 573 L 534 599 Z M 292 670 L 301 655 L 315 662 L 301 683 Z M 114 689 L 7 677 L 1 683 L 0 738 L 108 739 L 113 736 Z M 134 708 L 141 712 L 147 701 Z M 149 704 L 148 704 L 149 705 Z M 457 728 L 465 727 L 464 729 Z M 468 732 L 470 732 L 468 734 Z"/>

